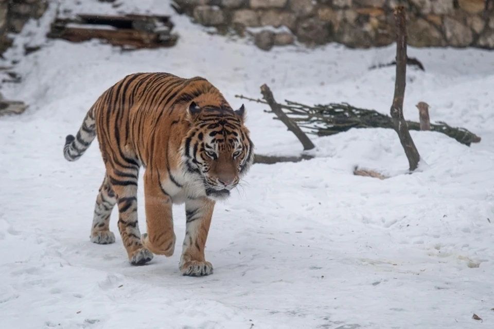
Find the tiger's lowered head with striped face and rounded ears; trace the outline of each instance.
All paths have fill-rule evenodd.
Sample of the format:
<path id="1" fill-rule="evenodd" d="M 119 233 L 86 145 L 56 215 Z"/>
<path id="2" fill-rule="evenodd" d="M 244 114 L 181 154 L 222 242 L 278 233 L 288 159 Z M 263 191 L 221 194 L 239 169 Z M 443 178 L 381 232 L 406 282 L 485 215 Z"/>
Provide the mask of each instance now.
<path id="1" fill-rule="evenodd" d="M 187 116 L 190 129 L 181 152 L 185 175 L 193 175 L 207 197 L 226 199 L 254 161 L 245 108 L 234 111 L 226 103 L 199 107 L 192 101 Z"/>

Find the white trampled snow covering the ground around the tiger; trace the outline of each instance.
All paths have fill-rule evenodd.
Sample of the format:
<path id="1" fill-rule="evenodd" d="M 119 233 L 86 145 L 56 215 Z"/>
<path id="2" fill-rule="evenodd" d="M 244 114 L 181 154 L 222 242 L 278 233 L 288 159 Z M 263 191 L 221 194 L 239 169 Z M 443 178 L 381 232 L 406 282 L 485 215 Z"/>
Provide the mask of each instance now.
<path id="1" fill-rule="evenodd" d="M 46 40 L 58 9 L 117 13 L 111 4 L 50 2 L 1 63 L 19 60 L 20 84 L 8 99 L 29 104 L 0 118 L 0 327 L 2 328 L 473 328 L 494 323 L 494 60 L 479 49 L 415 49 L 426 72 L 408 68 L 404 116 L 418 120 L 427 101 L 433 121 L 482 137 L 471 147 L 444 134 L 411 131 L 419 170 L 390 129 L 354 129 L 311 139 L 317 158 L 256 164 L 242 186 L 218 203 L 207 240 L 214 274 L 181 276 L 185 211 L 175 206 L 177 250 L 132 267 L 120 236 L 100 246 L 89 238 L 103 178 L 96 142 L 77 162 L 64 160 L 99 94 L 139 71 L 202 75 L 232 106 L 237 94 L 261 97 L 268 83 L 278 101 L 346 101 L 388 113 L 394 46 L 351 50 L 296 46 L 266 53 L 251 41 L 210 36 L 168 1 L 142 2 L 140 13 L 173 14 L 173 48 L 122 52 L 98 41 Z M 22 57 L 23 45 L 41 44 Z M 244 101 L 256 151 L 295 155 L 292 133 Z M 355 165 L 387 180 L 352 175 Z M 146 232 L 139 185 L 139 227 Z M 111 229 L 117 233 L 114 210 Z M 490 219 L 490 220 L 489 220 Z M 483 319 L 472 319 L 473 313 Z"/>

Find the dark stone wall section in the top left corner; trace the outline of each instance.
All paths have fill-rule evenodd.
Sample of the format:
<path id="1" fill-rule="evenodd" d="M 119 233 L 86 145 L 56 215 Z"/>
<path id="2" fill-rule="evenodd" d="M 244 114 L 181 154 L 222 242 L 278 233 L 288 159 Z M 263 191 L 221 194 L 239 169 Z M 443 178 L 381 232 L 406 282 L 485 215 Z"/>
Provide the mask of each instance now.
<path id="1" fill-rule="evenodd" d="M 29 19 L 39 19 L 46 0 L 0 0 L 0 54 L 12 43 L 8 33 L 19 33 Z"/>

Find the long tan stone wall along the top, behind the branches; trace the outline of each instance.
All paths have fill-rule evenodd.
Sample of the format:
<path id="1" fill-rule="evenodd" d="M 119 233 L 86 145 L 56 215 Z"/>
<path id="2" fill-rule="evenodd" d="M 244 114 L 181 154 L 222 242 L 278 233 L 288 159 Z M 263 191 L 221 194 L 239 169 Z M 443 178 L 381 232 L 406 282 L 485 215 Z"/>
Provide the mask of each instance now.
<path id="1" fill-rule="evenodd" d="M 408 12 L 409 44 L 416 47 L 494 48 L 494 1 L 487 0 L 175 0 L 196 23 L 219 32 L 255 32 L 264 50 L 294 40 L 316 46 L 389 45 L 395 39 L 393 9 Z M 285 27 L 276 32 L 272 28 Z"/>

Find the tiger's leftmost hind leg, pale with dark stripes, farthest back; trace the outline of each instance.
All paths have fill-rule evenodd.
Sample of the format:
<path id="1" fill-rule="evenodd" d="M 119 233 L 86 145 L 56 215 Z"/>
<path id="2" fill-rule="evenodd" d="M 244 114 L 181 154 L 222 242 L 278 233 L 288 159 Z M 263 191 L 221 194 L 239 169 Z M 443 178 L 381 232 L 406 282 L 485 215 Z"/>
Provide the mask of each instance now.
<path id="1" fill-rule="evenodd" d="M 115 242 L 115 235 L 110 231 L 110 215 L 117 199 L 107 175 L 99 188 L 94 206 L 91 241 L 95 244 L 108 245 Z"/>

